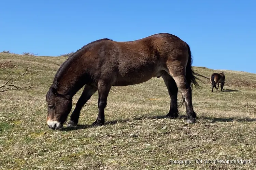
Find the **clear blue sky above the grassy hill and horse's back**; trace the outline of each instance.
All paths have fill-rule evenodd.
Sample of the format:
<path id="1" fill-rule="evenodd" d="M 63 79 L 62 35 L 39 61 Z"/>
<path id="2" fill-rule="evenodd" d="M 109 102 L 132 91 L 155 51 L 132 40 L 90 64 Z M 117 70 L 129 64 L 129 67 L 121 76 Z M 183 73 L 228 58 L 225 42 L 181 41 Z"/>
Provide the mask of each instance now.
<path id="1" fill-rule="evenodd" d="M 193 66 L 256 73 L 256 1 L 8 0 L 0 51 L 58 56 L 91 41 L 167 32 L 186 41 Z"/>

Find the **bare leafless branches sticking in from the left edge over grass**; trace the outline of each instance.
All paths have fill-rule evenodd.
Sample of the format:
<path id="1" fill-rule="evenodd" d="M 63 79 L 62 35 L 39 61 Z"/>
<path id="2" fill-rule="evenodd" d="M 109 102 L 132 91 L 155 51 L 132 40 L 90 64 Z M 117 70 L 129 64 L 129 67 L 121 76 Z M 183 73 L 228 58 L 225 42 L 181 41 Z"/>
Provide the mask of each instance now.
<path id="1" fill-rule="evenodd" d="M 0 92 L 9 91 L 9 90 L 32 90 L 32 89 L 34 89 L 35 86 L 32 84 L 31 80 L 30 80 L 29 84 L 22 83 L 21 85 L 17 85 L 17 80 L 20 77 L 22 77 L 23 75 L 27 74 L 31 67 L 33 67 L 33 65 L 28 67 L 24 73 L 20 74 L 17 77 L 14 77 L 14 78 L 6 77 L 7 81 L 3 85 L 0 85 Z"/>

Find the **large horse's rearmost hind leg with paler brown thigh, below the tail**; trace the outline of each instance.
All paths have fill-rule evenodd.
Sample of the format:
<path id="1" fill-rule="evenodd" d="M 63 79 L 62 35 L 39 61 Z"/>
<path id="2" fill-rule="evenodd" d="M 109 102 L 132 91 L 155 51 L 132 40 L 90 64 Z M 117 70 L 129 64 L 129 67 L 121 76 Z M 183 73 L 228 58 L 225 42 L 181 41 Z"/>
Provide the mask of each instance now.
<path id="1" fill-rule="evenodd" d="M 196 121 L 196 113 L 192 105 L 192 90 L 185 77 L 186 71 L 182 66 L 176 67 L 175 70 L 169 69 L 169 71 L 185 99 L 187 123 L 194 123 Z"/>

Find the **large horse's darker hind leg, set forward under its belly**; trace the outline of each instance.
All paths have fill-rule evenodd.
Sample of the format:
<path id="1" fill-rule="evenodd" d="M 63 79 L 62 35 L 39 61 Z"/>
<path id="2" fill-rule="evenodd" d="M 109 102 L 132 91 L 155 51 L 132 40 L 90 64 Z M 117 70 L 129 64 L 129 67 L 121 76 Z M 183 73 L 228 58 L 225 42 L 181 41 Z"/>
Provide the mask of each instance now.
<path id="1" fill-rule="evenodd" d="M 178 87 L 174 79 L 167 72 L 162 74 L 162 78 L 163 78 L 163 81 L 165 82 L 165 85 L 168 89 L 168 93 L 171 98 L 170 110 L 166 116 L 170 118 L 176 118 L 179 116 L 179 111 L 177 107 Z"/>

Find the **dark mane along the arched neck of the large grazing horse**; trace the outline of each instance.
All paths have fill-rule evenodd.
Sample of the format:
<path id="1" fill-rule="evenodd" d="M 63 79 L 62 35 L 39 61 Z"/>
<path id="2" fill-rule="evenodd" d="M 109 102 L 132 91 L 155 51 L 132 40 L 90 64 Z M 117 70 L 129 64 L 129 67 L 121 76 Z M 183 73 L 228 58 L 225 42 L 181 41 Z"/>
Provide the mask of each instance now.
<path id="1" fill-rule="evenodd" d="M 110 40 L 112 41 L 111 39 L 108 39 L 108 38 L 102 38 L 102 39 L 99 39 L 99 40 L 96 40 L 96 41 L 92 41 L 91 43 L 88 43 L 87 45 L 83 46 L 82 48 L 78 49 L 76 52 L 74 52 L 73 54 L 71 54 L 68 59 L 61 64 L 61 66 L 59 67 L 55 77 L 54 77 L 54 80 L 53 80 L 53 84 L 51 86 L 51 88 L 55 88 L 55 89 L 58 89 L 58 79 L 60 77 L 62 77 L 63 73 L 65 72 L 65 70 L 70 67 L 70 65 L 73 63 L 73 61 L 81 56 L 82 53 L 85 52 L 85 50 L 88 50 L 89 48 L 97 45 L 98 43 L 102 42 L 102 41 L 106 41 L 106 40 Z"/>

